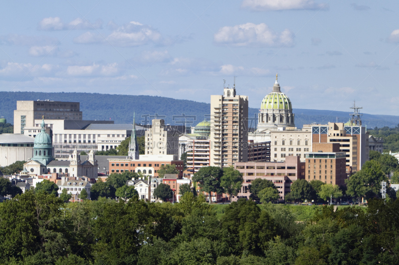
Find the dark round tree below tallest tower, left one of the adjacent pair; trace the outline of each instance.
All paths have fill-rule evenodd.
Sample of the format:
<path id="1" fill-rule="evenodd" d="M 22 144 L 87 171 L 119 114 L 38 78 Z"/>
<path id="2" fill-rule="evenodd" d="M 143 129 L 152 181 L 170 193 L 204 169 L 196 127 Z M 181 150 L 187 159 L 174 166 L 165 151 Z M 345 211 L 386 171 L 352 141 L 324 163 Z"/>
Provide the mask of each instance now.
<path id="1" fill-rule="evenodd" d="M 223 171 L 218 167 L 203 167 L 192 177 L 194 182 L 198 182 L 202 191 L 209 193 L 209 203 L 211 200 L 211 192 L 221 193 L 223 191 L 220 186 L 220 178 Z"/>

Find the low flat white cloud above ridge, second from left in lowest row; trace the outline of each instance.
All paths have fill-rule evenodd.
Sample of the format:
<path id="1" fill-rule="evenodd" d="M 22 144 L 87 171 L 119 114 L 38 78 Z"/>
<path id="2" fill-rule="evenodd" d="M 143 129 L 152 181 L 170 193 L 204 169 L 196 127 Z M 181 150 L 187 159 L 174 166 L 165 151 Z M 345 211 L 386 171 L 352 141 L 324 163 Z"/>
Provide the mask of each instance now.
<path id="1" fill-rule="evenodd" d="M 108 65 L 87 65 L 87 66 L 68 66 L 66 73 L 69 76 L 113 76 L 119 72 L 118 64 L 112 63 Z"/>

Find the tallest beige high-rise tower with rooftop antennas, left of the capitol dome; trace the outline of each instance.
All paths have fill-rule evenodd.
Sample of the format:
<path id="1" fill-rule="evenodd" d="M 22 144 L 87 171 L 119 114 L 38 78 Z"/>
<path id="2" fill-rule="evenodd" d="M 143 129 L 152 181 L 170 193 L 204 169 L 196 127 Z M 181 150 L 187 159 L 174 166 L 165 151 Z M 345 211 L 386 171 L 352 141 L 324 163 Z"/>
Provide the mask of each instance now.
<path id="1" fill-rule="evenodd" d="M 248 96 L 236 95 L 235 85 L 210 96 L 210 166 L 246 162 L 248 153 Z"/>

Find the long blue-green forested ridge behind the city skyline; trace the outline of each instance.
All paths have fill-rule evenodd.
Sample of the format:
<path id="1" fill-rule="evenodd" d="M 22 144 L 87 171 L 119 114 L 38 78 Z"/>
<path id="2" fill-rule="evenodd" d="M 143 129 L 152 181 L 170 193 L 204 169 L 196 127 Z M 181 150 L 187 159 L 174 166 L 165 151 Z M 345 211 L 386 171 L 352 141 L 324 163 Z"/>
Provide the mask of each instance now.
<path id="1" fill-rule="evenodd" d="M 0 116 L 4 116 L 8 122 L 13 123 L 13 110 L 16 109 L 17 100 L 59 100 L 80 102 L 80 110 L 83 111 L 83 119 L 86 120 L 114 120 L 115 123 L 131 123 L 133 112 L 136 112 L 136 122 L 144 123 L 145 115 L 165 116 L 166 123 L 176 124 L 174 115 L 196 116 L 194 125 L 202 121 L 205 115 L 209 115 L 210 105 L 192 100 L 174 99 L 161 96 L 147 95 L 119 95 L 100 93 L 44 93 L 44 92 L 3 92 L 0 91 Z M 249 117 L 257 118 L 257 108 L 249 108 Z M 325 124 L 329 121 L 347 122 L 350 112 L 294 109 L 295 125 L 301 128 L 303 124 L 313 122 Z M 147 118 L 151 120 L 151 118 Z M 187 120 L 193 120 L 188 118 Z M 399 116 L 364 114 L 363 124 L 368 128 L 395 127 L 399 124 Z M 190 126 L 190 124 L 188 124 Z M 252 123 L 251 125 L 255 125 Z"/>

